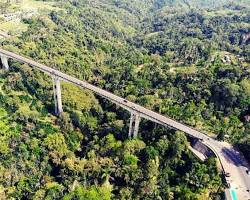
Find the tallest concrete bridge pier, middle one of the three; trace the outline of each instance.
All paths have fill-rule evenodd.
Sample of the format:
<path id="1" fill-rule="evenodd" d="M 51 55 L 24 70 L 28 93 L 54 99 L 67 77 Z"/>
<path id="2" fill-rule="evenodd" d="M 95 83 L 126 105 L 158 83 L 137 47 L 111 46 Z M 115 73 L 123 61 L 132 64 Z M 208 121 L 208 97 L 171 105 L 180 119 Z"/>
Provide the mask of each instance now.
<path id="1" fill-rule="evenodd" d="M 62 94 L 61 94 L 61 83 L 58 77 L 53 77 L 53 91 L 55 100 L 55 114 L 60 116 L 63 112 L 62 109 Z"/>

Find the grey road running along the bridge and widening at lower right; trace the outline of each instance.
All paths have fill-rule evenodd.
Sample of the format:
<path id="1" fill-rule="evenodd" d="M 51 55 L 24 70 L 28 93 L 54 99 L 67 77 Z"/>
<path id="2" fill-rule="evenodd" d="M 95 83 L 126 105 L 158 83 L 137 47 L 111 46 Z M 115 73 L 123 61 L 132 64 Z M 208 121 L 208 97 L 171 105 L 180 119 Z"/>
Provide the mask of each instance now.
<path id="1" fill-rule="evenodd" d="M 105 91 L 101 88 L 91 85 L 85 81 L 81 81 L 65 73 L 62 73 L 58 70 L 37 63 L 31 59 L 22 57 L 20 55 L 17 55 L 15 53 L 3 49 L 0 49 L 0 54 L 8 58 L 20 61 L 21 63 L 26 63 L 30 66 L 35 67 L 36 69 L 39 69 L 45 73 L 50 74 L 51 76 L 56 76 L 61 80 L 70 82 L 85 89 L 89 89 L 94 93 L 106 99 L 109 99 L 113 103 L 123 107 L 129 112 L 136 113 L 142 118 L 151 120 L 163 126 L 172 127 L 176 130 L 183 131 L 186 134 L 201 139 L 204 144 L 206 144 L 209 148 L 211 148 L 215 152 L 215 154 L 217 155 L 222 164 L 224 171 L 230 173 L 230 177 L 226 177 L 226 180 L 228 183 L 230 183 L 231 187 L 236 189 L 236 194 L 238 199 L 250 200 L 250 193 L 247 191 L 250 189 L 250 176 L 247 175 L 246 173 L 246 169 L 250 168 L 244 157 L 239 153 L 239 151 L 233 148 L 230 144 L 225 142 L 218 142 L 213 138 L 208 137 L 206 134 L 195 130 L 194 128 L 191 128 L 187 125 L 184 125 L 173 119 L 170 119 L 169 117 L 160 115 L 156 112 L 146 109 L 138 104 L 130 102 L 119 96 L 116 96 L 108 91 Z"/>

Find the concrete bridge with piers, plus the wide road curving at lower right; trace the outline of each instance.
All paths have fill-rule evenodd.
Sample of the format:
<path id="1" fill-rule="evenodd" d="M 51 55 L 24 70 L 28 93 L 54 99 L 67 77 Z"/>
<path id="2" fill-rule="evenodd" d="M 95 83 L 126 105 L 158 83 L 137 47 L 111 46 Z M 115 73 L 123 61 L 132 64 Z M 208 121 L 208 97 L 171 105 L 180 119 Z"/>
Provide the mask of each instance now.
<path id="1" fill-rule="evenodd" d="M 225 179 L 228 185 L 230 185 L 230 187 L 236 190 L 237 197 L 242 200 L 250 200 L 250 177 L 248 177 L 246 173 L 246 169 L 249 168 L 249 165 L 244 159 L 244 157 L 240 154 L 240 152 L 230 144 L 218 142 L 213 138 L 207 136 L 206 134 L 195 130 L 194 128 L 191 128 L 187 125 L 170 119 L 169 117 L 160 115 L 156 112 L 146 109 L 138 104 L 130 102 L 106 90 L 89 84 L 86 81 L 81 81 L 56 69 L 37 63 L 29 58 L 25 58 L 23 56 L 17 55 L 15 53 L 3 49 L 0 49 L 0 56 L 2 66 L 5 70 L 9 70 L 8 59 L 13 59 L 21 63 L 28 64 L 29 66 L 34 67 L 44 73 L 47 73 L 52 77 L 55 99 L 55 113 L 58 116 L 63 112 L 60 82 L 66 81 L 84 89 L 89 89 L 94 93 L 102 96 L 103 98 L 106 98 L 111 102 L 117 104 L 118 106 L 129 111 L 131 114 L 128 133 L 129 137 L 136 138 L 138 136 L 140 119 L 145 118 L 160 125 L 172 127 L 173 129 L 183 131 L 189 136 L 199 139 L 218 157 L 224 174 L 227 174 L 227 176 L 225 176 Z M 228 173 L 230 174 L 230 176 L 228 176 Z"/>

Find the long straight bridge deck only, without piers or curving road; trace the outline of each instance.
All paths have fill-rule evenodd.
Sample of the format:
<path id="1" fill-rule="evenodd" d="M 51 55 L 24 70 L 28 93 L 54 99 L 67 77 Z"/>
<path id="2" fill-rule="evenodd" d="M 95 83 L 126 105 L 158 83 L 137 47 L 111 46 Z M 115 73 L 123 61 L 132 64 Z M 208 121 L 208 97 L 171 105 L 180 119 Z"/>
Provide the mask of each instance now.
<path id="1" fill-rule="evenodd" d="M 79 80 L 77 78 L 74 78 L 73 76 L 70 76 L 70 75 L 67 75 L 63 72 L 60 72 L 59 70 L 53 69 L 53 68 L 48 67 L 46 65 L 35 62 L 29 58 L 25 58 L 23 56 L 17 55 L 15 53 L 12 53 L 12 52 L 9 52 L 9 51 L 3 50 L 3 49 L 0 49 L 0 54 L 6 56 L 8 58 L 17 60 L 21 63 L 26 63 L 26 64 L 33 66 L 33 67 L 35 67 L 35 68 L 37 68 L 37 69 L 39 69 L 47 74 L 50 74 L 52 76 L 57 76 L 61 80 L 70 82 L 72 84 L 75 84 L 75 85 L 82 87 L 82 88 L 85 88 L 85 89 L 89 89 L 89 90 L 93 91 L 94 93 L 96 93 L 100 96 L 103 96 L 104 98 L 109 99 L 110 101 L 114 102 L 115 104 L 125 108 L 126 110 L 139 114 L 140 117 L 151 120 L 151 121 L 156 122 L 158 124 L 161 124 L 163 126 L 173 127 L 174 129 L 181 130 L 181 131 L 183 131 L 189 135 L 192 135 L 196 138 L 207 139 L 205 134 L 202 134 L 201 132 L 199 132 L 191 127 L 188 127 L 187 125 L 184 125 L 184 124 L 179 123 L 179 122 L 177 122 L 169 117 L 160 115 L 156 112 L 153 112 L 149 109 L 146 109 L 138 104 L 135 104 L 135 103 L 128 101 L 124 98 L 121 98 L 117 95 L 114 95 L 111 92 L 103 90 L 103 89 L 96 87 L 92 84 L 89 84 L 86 81 Z"/>

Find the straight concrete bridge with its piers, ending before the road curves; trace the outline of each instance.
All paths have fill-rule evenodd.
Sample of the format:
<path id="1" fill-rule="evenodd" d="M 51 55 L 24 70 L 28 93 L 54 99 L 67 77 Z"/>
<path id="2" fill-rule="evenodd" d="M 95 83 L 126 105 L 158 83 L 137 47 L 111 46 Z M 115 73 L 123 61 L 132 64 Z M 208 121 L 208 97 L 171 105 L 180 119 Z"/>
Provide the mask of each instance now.
<path id="1" fill-rule="evenodd" d="M 146 109 L 138 104 L 135 104 L 133 102 L 130 102 L 124 98 L 121 98 L 117 95 L 112 94 L 111 92 L 108 92 L 106 90 L 100 89 L 94 85 L 91 85 L 85 81 L 81 81 L 79 79 L 76 79 L 72 76 L 69 76 L 65 73 L 62 73 L 56 69 L 52 69 L 48 66 L 45 66 L 43 64 L 37 63 L 31 59 L 25 58 L 23 56 L 17 55 L 15 53 L 0 49 L 0 55 L 2 60 L 2 65 L 5 70 L 9 70 L 9 64 L 8 59 L 17 60 L 21 63 L 28 64 L 31 67 L 34 67 L 44 73 L 47 73 L 51 76 L 53 80 L 53 89 L 54 89 L 54 99 L 55 99 L 55 113 L 56 115 L 60 115 L 63 112 L 62 108 L 62 98 L 61 98 L 61 81 L 66 81 L 69 83 L 72 83 L 74 85 L 77 85 L 79 87 L 89 89 L 93 91 L 94 93 L 110 100 L 111 102 L 117 104 L 118 106 L 126 109 L 130 112 L 130 126 L 129 126 L 129 137 L 137 137 L 138 136 L 138 130 L 139 130 L 139 123 L 141 118 L 148 119 L 150 121 L 153 121 L 155 123 L 161 124 L 163 126 L 172 127 L 176 130 L 183 131 L 187 134 L 190 134 L 191 136 L 195 136 L 196 138 L 202 139 L 203 134 L 201 134 L 199 131 L 192 129 L 186 125 L 183 125 L 177 121 L 174 121 L 166 116 L 160 115 L 156 112 L 153 112 L 149 109 Z"/>

